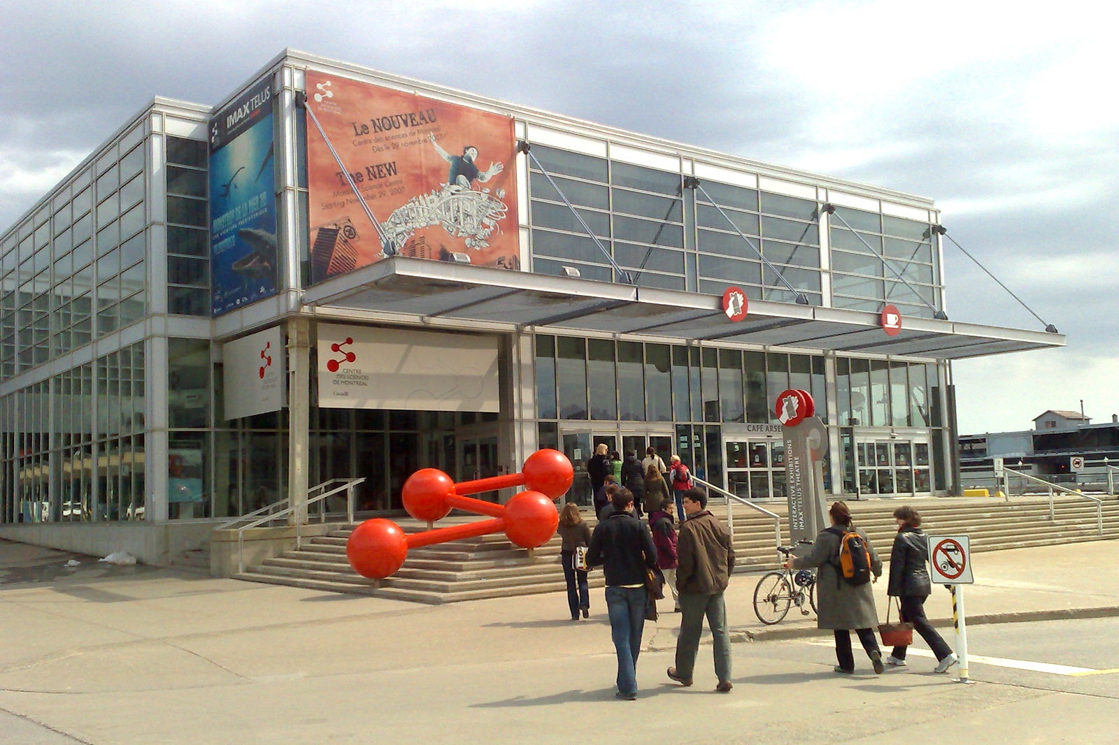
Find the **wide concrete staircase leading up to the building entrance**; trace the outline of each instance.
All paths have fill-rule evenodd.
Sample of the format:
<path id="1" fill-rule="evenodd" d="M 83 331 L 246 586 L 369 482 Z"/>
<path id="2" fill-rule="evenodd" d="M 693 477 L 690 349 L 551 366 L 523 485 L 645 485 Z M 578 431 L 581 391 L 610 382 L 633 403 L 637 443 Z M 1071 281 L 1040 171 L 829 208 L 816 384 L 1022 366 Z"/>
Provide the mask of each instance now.
<path id="1" fill-rule="evenodd" d="M 967 535 L 972 553 L 1100 539 L 1094 503 L 1074 497 L 1057 497 L 1054 501 L 1052 522 L 1045 497 L 1016 497 L 1010 502 L 997 498 L 876 499 L 848 504 L 855 525 L 867 532 L 883 560 L 888 560 L 896 532 L 893 511 L 906 503 L 921 512 L 922 528 L 927 532 Z M 781 516 L 787 541 L 786 506 L 765 507 Z M 725 504 L 713 500 L 711 509 L 725 520 Z M 735 573 L 775 567 L 778 554 L 773 550 L 772 519 L 742 506 L 735 506 L 733 513 Z M 439 527 L 468 520 L 451 518 L 441 521 Z M 592 515 L 592 526 L 593 520 Z M 425 528 L 411 519 L 397 522 L 408 532 Z M 308 540 L 299 550 L 266 559 L 234 576 L 252 582 L 435 604 L 564 590 L 558 537 L 532 551 L 514 546 L 502 535 L 416 548 L 408 551 L 404 566 L 395 575 L 376 581 L 361 577 L 347 563 L 346 540 L 350 530 L 352 526 L 339 525 L 326 536 Z M 1103 538 L 1119 538 L 1119 500 L 1104 499 Z M 591 572 L 590 584 L 602 586 L 601 570 Z"/>

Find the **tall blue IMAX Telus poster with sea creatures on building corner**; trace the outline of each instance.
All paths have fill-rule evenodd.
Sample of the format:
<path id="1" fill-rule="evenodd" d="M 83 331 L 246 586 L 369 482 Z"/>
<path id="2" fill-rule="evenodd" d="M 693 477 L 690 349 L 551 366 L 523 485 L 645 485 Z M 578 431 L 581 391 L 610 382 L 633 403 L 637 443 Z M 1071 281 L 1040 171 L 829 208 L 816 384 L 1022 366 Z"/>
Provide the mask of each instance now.
<path id="1" fill-rule="evenodd" d="M 210 123 L 210 273 L 215 317 L 276 294 L 272 83 L 264 81 Z"/>

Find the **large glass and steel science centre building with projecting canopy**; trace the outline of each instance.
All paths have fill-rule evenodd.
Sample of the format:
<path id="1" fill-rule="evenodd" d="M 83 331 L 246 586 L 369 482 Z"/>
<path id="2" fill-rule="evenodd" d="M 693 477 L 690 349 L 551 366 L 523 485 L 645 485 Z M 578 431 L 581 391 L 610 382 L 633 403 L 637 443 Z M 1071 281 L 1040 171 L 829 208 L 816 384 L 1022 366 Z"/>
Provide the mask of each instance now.
<path id="1" fill-rule="evenodd" d="M 585 502 L 598 443 L 783 498 L 788 388 L 830 494 L 955 493 L 950 360 L 1064 338 L 948 320 L 941 234 L 922 197 L 288 50 L 154 98 L 0 238 L 0 536 L 166 563 L 538 447 Z"/>

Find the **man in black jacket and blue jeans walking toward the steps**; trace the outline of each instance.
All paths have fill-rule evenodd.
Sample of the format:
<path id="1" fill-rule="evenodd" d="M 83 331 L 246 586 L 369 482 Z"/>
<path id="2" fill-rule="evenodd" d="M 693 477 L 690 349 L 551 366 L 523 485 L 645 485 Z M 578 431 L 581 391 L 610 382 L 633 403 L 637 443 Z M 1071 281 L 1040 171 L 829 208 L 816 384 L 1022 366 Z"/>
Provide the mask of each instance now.
<path id="1" fill-rule="evenodd" d="M 606 579 L 610 633 L 618 652 L 618 698 L 637 698 L 637 658 L 645 631 L 645 572 L 657 566 L 649 529 L 633 515 L 633 492 L 619 489 L 614 511 L 591 534 L 587 566 L 602 565 Z"/>

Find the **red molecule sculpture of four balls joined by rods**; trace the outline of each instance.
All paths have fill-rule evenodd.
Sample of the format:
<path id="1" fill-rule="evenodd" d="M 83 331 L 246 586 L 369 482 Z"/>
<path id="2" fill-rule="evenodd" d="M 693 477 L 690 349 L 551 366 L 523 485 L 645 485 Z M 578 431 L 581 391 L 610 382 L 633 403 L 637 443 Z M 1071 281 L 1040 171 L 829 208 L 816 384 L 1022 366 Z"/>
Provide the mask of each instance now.
<path id="1" fill-rule="evenodd" d="M 560 522 L 553 500 L 567 492 L 574 475 L 571 461 L 556 450 L 536 451 L 525 461 L 520 473 L 461 483 L 454 483 L 451 477 L 438 469 L 421 469 L 404 482 L 402 499 L 408 515 L 417 520 L 434 522 L 458 508 L 493 519 L 411 536 L 392 520 L 366 520 L 354 529 L 346 541 L 346 558 L 363 577 L 384 579 L 401 568 L 410 548 L 420 546 L 498 531 L 505 531 L 506 537 L 521 548 L 543 546 L 555 535 Z M 505 504 L 466 496 L 520 485 L 528 487 L 528 491 L 514 494 Z"/>

